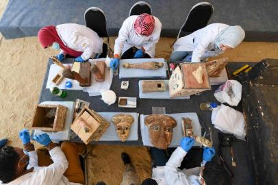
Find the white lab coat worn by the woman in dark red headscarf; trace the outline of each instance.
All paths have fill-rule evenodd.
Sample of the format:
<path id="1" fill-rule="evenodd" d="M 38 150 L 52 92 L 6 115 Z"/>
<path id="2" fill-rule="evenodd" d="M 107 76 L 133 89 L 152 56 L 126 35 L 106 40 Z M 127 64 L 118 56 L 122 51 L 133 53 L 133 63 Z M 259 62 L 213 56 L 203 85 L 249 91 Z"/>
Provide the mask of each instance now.
<path id="1" fill-rule="evenodd" d="M 74 23 L 57 25 L 56 30 L 64 45 L 83 52 L 81 58 L 88 60 L 102 53 L 103 39 L 92 29 Z M 61 53 L 66 54 L 61 50 Z"/>

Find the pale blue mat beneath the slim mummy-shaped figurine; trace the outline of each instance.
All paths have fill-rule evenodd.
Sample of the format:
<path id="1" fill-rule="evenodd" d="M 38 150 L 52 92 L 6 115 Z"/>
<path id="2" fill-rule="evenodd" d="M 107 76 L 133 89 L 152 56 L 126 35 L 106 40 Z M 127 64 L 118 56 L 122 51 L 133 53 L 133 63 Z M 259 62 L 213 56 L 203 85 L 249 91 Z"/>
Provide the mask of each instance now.
<path id="1" fill-rule="evenodd" d="M 147 69 L 125 69 L 123 64 L 128 63 L 142 63 L 142 62 L 164 62 L 164 58 L 140 58 L 140 59 L 124 59 L 120 60 L 120 78 L 136 78 L 136 77 L 166 77 L 166 62 L 164 66 L 157 70 L 147 70 Z"/>

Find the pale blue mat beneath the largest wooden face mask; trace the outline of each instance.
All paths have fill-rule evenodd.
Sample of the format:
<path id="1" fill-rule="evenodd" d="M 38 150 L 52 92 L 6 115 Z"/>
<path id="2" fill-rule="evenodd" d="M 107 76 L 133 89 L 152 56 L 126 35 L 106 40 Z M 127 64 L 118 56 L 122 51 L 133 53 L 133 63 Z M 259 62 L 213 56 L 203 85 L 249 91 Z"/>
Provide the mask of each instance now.
<path id="1" fill-rule="evenodd" d="M 178 147 L 180 144 L 182 138 L 182 127 L 181 127 L 182 117 L 190 118 L 192 120 L 192 127 L 193 127 L 194 134 L 197 136 L 201 136 L 202 134 L 201 125 L 198 116 L 195 112 L 166 114 L 166 115 L 173 117 L 173 119 L 177 121 L 177 127 L 173 129 L 173 138 L 169 147 Z M 144 124 L 144 118 L 146 116 L 147 115 L 140 114 L 140 129 L 141 129 L 142 141 L 144 146 L 153 147 L 153 144 L 151 143 L 151 140 L 149 138 L 149 129 L 147 125 Z M 194 146 L 200 146 L 200 144 L 195 142 Z"/>

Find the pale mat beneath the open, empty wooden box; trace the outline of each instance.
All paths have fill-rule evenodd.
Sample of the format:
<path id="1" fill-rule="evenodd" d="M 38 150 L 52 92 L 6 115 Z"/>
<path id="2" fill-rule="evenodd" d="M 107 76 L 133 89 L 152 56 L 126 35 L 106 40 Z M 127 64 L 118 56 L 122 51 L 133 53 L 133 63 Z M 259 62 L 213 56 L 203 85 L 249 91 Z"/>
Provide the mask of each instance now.
<path id="1" fill-rule="evenodd" d="M 62 105 L 66 106 L 66 120 L 64 125 L 64 130 L 59 132 L 44 132 L 41 130 L 36 130 L 36 134 L 34 136 L 38 136 L 42 133 L 49 134 L 51 140 L 60 141 L 60 140 L 68 140 L 71 123 L 73 123 L 73 111 L 75 108 L 75 102 L 73 101 L 44 101 L 40 104 L 49 104 L 49 105 Z"/>

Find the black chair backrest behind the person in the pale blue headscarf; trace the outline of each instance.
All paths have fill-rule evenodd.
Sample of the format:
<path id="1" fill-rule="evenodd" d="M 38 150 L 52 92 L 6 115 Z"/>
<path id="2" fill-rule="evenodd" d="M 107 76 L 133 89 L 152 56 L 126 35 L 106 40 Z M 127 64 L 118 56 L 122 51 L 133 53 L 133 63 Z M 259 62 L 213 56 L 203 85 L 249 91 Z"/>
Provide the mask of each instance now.
<path id="1" fill-rule="evenodd" d="M 184 25 L 179 29 L 177 39 L 179 38 L 181 31 L 192 33 L 205 27 L 208 21 L 210 21 L 213 12 L 214 7 L 211 3 L 201 2 L 194 5 L 186 17 Z"/>

